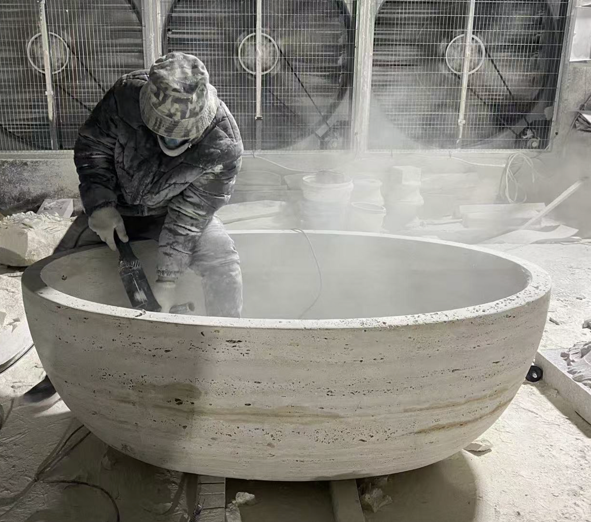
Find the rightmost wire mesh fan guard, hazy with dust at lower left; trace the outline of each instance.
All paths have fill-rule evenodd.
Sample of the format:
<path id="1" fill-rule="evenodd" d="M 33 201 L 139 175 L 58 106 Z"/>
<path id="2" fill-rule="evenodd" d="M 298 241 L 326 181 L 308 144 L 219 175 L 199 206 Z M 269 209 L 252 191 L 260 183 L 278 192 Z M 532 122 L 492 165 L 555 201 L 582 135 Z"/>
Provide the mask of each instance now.
<path id="1" fill-rule="evenodd" d="M 369 147 L 547 146 L 566 8 L 546 0 L 382 1 Z"/>

